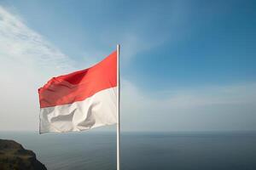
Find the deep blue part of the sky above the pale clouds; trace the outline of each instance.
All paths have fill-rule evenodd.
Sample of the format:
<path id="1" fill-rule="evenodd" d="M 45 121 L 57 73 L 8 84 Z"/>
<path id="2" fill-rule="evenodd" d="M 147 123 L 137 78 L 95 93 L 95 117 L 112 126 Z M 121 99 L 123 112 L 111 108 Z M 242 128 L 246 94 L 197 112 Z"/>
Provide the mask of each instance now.
<path id="1" fill-rule="evenodd" d="M 121 55 L 131 58 L 128 64 L 122 60 L 122 73 L 148 90 L 255 79 L 254 1 L 3 4 L 15 8 L 27 26 L 86 66 L 86 58 L 102 59 L 120 43 L 125 52 L 131 50 Z M 98 50 L 103 56 L 93 56 Z"/>

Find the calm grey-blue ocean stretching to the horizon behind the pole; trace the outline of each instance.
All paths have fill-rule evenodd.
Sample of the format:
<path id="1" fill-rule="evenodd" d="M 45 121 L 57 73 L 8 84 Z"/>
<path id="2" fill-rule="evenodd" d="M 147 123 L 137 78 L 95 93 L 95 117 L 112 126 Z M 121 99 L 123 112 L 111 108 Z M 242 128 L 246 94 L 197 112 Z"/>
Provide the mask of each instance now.
<path id="1" fill-rule="evenodd" d="M 0 132 L 49 170 L 116 169 L 115 133 Z M 255 170 L 256 133 L 122 133 L 122 170 Z"/>

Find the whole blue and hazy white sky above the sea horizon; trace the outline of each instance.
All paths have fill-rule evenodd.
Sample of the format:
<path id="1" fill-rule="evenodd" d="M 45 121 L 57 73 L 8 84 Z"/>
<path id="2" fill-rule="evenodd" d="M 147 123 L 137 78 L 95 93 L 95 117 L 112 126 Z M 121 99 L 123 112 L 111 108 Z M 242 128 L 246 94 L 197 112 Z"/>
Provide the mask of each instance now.
<path id="1" fill-rule="evenodd" d="M 122 131 L 255 131 L 255 8 L 250 0 L 0 0 L 0 130 L 38 131 L 38 88 L 119 43 Z"/>

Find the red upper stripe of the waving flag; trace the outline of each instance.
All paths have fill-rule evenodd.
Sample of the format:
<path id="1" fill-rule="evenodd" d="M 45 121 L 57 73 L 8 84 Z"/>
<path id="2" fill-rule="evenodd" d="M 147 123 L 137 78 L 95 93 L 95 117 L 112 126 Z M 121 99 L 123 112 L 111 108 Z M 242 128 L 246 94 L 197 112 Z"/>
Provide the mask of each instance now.
<path id="1" fill-rule="evenodd" d="M 100 63 L 60 77 L 54 77 L 38 89 L 40 107 L 67 105 L 89 98 L 97 92 L 117 86 L 117 53 Z"/>

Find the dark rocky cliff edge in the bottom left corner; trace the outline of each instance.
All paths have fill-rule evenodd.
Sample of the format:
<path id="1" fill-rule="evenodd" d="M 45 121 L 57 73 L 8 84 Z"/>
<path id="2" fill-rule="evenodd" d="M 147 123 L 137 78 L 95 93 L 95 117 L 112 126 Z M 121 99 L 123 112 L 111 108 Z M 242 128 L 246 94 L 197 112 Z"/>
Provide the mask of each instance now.
<path id="1" fill-rule="evenodd" d="M 0 170 L 46 170 L 32 150 L 14 140 L 0 139 Z"/>

